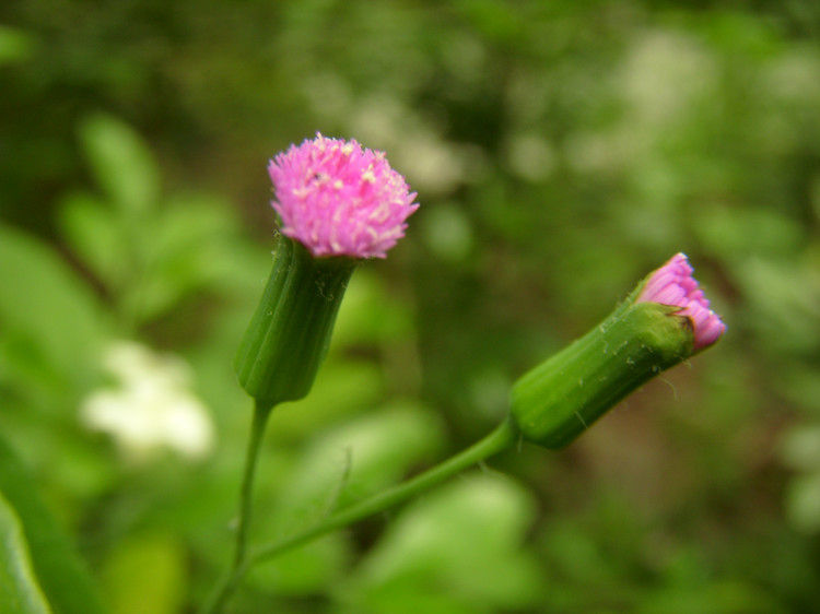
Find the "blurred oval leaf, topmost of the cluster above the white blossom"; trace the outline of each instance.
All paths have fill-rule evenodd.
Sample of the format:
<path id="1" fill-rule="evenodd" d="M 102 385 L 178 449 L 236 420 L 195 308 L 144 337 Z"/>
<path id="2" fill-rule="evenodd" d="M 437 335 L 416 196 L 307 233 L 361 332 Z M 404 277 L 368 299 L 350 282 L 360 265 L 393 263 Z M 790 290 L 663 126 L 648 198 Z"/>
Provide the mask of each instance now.
<path id="1" fill-rule="evenodd" d="M 122 212 L 142 214 L 156 205 L 160 172 L 142 138 L 109 115 L 80 126 L 80 138 L 97 182 Z"/>

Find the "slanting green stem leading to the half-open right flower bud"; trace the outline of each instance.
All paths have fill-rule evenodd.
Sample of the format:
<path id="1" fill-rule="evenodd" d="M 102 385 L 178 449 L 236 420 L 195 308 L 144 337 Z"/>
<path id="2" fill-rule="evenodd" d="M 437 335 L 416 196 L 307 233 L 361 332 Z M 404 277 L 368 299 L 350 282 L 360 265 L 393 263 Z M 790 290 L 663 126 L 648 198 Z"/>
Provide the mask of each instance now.
<path id="1" fill-rule="evenodd" d="M 435 486 L 447 477 L 459 473 L 470 465 L 504 450 L 515 441 L 516 437 L 517 430 L 515 426 L 509 420 L 505 420 L 497 428 L 495 428 L 495 430 L 490 433 L 490 435 L 481 439 L 479 442 L 443 463 L 425 471 L 421 475 L 378 493 L 361 503 L 341 509 L 326 518 L 316 527 L 307 529 L 302 533 L 286 538 L 281 542 L 260 547 L 256 553 L 250 555 L 247 562 L 247 567 L 272 558 L 320 535 L 329 533 L 330 531 L 341 529 L 342 527 L 352 524 L 353 522 L 384 511 L 396 504 L 407 500 L 410 497 Z"/>

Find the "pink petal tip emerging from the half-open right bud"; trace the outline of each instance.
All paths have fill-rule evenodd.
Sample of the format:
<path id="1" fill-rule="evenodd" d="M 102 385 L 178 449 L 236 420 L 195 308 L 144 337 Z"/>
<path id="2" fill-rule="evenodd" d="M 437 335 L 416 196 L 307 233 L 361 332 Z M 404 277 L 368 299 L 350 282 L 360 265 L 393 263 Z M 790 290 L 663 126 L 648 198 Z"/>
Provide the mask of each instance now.
<path id="1" fill-rule="evenodd" d="M 659 303 L 680 307 L 694 331 L 694 350 L 712 345 L 726 330 L 726 324 L 708 308 L 708 300 L 692 276 L 692 267 L 684 253 L 676 253 L 649 276 L 635 303 Z"/>

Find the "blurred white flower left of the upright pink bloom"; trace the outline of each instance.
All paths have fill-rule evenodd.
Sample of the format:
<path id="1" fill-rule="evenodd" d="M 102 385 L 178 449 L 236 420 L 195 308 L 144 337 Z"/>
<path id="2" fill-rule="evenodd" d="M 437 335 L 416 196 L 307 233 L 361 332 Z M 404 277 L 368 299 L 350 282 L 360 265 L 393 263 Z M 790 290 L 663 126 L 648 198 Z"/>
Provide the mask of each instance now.
<path id="1" fill-rule="evenodd" d="M 105 352 L 103 365 L 117 387 L 97 390 L 83 401 L 80 416 L 85 426 L 108 433 L 132 461 L 144 461 L 163 448 L 191 459 L 208 453 L 213 425 L 190 391 L 191 370 L 181 358 L 117 342 Z"/>

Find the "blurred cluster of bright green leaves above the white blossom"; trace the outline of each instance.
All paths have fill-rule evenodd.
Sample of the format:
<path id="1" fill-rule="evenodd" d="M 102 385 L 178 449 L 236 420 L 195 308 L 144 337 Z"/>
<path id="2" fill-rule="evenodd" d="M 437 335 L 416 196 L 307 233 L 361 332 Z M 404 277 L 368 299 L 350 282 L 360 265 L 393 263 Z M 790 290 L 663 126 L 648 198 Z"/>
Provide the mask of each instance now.
<path id="1" fill-rule="evenodd" d="M 81 141 L 101 200 L 68 194 L 62 231 L 75 253 L 104 283 L 126 326 L 165 315 L 190 294 L 233 282 L 235 221 L 209 194 L 173 194 L 160 201 L 156 162 L 142 139 L 108 116 L 81 127 Z"/>

